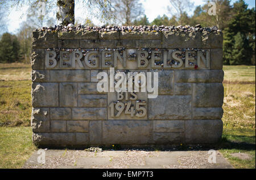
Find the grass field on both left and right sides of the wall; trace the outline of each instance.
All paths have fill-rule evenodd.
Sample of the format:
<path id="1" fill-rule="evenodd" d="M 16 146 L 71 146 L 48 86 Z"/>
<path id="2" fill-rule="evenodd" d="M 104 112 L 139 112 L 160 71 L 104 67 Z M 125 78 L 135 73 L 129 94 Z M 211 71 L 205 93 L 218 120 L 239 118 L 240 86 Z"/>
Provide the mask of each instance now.
<path id="1" fill-rule="evenodd" d="M 21 168 L 31 143 L 30 65 L 0 64 L 0 168 Z M 224 66 L 224 130 L 218 149 L 235 168 L 255 168 L 255 66 Z M 250 160 L 232 157 L 247 153 Z"/>

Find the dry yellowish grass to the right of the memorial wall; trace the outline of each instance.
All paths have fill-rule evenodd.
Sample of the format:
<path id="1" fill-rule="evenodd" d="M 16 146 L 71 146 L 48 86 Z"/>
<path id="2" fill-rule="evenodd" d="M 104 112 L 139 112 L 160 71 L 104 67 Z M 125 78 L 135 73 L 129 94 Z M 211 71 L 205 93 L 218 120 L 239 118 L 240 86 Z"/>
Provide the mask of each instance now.
<path id="1" fill-rule="evenodd" d="M 224 66 L 223 144 L 220 152 L 235 168 L 255 168 L 255 66 Z M 250 160 L 232 157 L 247 153 Z"/>

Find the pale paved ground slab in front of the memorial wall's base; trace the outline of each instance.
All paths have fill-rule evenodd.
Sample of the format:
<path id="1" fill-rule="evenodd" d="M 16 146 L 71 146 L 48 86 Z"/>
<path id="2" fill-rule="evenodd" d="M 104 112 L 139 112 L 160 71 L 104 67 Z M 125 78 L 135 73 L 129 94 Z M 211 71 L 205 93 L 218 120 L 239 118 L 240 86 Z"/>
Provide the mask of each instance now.
<path id="1" fill-rule="evenodd" d="M 216 164 L 209 163 L 208 150 L 150 151 L 150 150 L 45 150 L 46 163 L 39 164 L 37 151 L 23 168 L 128 168 L 128 169 L 232 169 L 233 166 L 216 151 Z"/>

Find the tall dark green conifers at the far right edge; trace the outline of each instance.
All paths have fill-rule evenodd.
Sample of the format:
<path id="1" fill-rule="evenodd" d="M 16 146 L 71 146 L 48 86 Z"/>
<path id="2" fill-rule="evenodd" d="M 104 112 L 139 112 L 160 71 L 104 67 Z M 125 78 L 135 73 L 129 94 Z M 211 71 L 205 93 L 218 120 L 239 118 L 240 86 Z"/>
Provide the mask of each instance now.
<path id="1" fill-rule="evenodd" d="M 233 18 L 224 30 L 224 64 L 252 64 L 255 57 L 255 9 L 247 7 L 242 0 L 234 3 Z"/>

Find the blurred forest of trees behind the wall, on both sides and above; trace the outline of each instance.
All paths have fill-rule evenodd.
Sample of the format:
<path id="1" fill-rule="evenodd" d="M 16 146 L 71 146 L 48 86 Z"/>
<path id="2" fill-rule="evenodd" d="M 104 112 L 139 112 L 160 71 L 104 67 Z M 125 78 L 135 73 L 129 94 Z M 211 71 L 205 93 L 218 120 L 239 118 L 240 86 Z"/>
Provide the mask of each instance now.
<path id="1" fill-rule="evenodd" d="M 56 0 L 55 0 L 56 1 Z M 93 1 L 93 0 L 92 0 Z M 249 9 L 243 0 L 238 0 L 231 5 L 229 0 L 214 0 L 216 15 L 209 15 L 209 6 L 197 6 L 193 15 L 189 16 L 185 10 L 192 9 L 193 3 L 189 0 L 170 0 L 172 7 L 167 7 L 171 16 L 158 16 L 148 22 L 142 4 L 138 0 L 111 0 L 113 7 L 113 20 L 105 24 L 119 24 L 120 26 L 217 26 L 223 32 L 223 57 L 226 65 L 255 65 L 255 8 Z M 0 3 L 0 63 L 24 62 L 30 63 L 32 31 L 43 26 L 54 26 L 56 18 L 49 15 L 38 15 L 38 6 L 31 3 L 26 21 L 20 24 L 16 34 L 7 32 L 5 19 L 5 6 Z M 76 12 L 75 12 L 76 13 Z M 76 24 L 94 26 L 87 17 L 76 19 Z"/>

